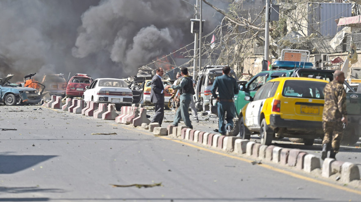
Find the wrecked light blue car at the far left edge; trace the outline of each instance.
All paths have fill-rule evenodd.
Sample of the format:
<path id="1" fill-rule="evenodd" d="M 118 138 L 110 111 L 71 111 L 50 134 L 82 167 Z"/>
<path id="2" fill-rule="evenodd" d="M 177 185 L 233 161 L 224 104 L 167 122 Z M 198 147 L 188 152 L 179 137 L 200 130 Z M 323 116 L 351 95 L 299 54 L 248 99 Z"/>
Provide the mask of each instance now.
<path id="1" fill-rule="evenodd" d="M 41 93 L 35 88 L 21 87 L 9 80 L 14 74 L 9 74 L 5 78 L 0 78 L 0 102 L 5 105 L 38 104 L 42 100 Z"/>

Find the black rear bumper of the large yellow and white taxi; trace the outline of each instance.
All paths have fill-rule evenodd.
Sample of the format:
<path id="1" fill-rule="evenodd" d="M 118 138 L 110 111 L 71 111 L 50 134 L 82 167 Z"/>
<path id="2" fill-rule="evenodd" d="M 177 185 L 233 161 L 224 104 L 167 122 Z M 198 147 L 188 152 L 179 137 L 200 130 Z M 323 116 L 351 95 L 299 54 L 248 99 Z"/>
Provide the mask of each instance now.
<path id="1" fill-rule="evenodd" d="M 279 114 L 270 115 L 270 128 L 287 128 L 287 130 L 319 130 L 322 129 L 322 121 L 305 121 L 294 119 L 282 119 Z"/>

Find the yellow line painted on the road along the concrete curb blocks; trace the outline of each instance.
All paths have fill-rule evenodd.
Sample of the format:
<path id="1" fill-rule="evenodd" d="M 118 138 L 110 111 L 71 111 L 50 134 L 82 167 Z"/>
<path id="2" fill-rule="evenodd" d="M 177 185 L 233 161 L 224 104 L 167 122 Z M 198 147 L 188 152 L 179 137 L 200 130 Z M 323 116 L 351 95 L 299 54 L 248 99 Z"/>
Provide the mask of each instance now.
<path id="1" fill-rule="evenodd" d="M 110 124 L 110 125 L 116 125 L 116 124 Z M 149 135 L 149 133 L 145 133 L 145 132 L 139 131 L 138 129 L 127 128 L 127 127 L 121 127 L 121 128 L 129 129 L 129 130 L 136 131 L 136 132 L 138 132 L 138 133 L 143 133 L 143 134 Z M 196 146 L 196 145 L 194 145 L 194 144 L 187 143 L 187 142 L 183 142 L 183 141 L 180 141 L 180 140 L 177 140 L 177 139 L 171 139 L 171 138 L 168 138 L 168 137 L 165 137 L 165 136 L 157 136 L 157 137 L 160 137 L 160 138 L 163 138 L 163 139 L 167 139 L 167 140 L 171 140 L 171 141 L 173 141 L 173 142 L 185 144 L 185 145 L 187 145 L 187 146 L 194 147 L 194 148 L 197 148 L 197 149 L 199 149 L 199 150 L 203 150 L 203 151 L 207 151 L 207 152 L 210 152 L 210 153 L 214 153 L 214 154 L 226 156 L 226 157 L 229 157 L 229 158 L 231 158 L 231 159 L 237 159 L 237 160 L 241 160 L 241 161 L 245 161 L 245 162 L 253 162 L 252 160 L 244 159 L 244 158 L 238 157 L 238 156 L 232 156 L 232 155 L 229 155 L 229 154 L 226 154 L 226 153 L 222 153 L 222 152 L 218 152 L 218 151 L 213 151 L 213 150 L 210 150 L 210 149 L 207 149 L 207 148 L 204 148 L 204 147 L 199 147 L 199 146 Z M 303 175 L 300 175 L 300 174 L 292 173 L 291 171 L 278 169 L 277 167 L 273 167 L 273 166 L 266 165 L 266 164 L 256 164 L 256 165 L 261 166 L 261 167 L 264 167 L 264 168 L 269 169 L 269 170 L 277 171 L 277 172 L 279 172 L 279 173 L 283 173 L 283 174 L 286 174 L 286 175 L 290 175 L 290 176 L 295 177 L 295 178 L 307 180 L 307 181 L 310 181 L 310 182 L 313 182 L 313 183 L 318 183 L 318 184 L 322 184 L 322 185 L 325 185 L 325 186 L 329 186 L 329 187 L 332 187 L 332 188 L 335 188 L 335 189 L 341 189 L 341 190 L 344 190 L 344 191 L 347 191 L 347 192 L 352 192 L 352 193 L 361 195 L 361 191 L 359 191 L 359 190 L 355 190 L 355 189 L 343 187 L 343 186 L 336 185 L 336 184 L 331 184 L 331 183 L 324 182 L 324 181 L 321 181 L 321 180 L 316 180 L 316 179 L 309 178 L 309 177 L 306 177 L 306 176 L 303 176 Z"/>

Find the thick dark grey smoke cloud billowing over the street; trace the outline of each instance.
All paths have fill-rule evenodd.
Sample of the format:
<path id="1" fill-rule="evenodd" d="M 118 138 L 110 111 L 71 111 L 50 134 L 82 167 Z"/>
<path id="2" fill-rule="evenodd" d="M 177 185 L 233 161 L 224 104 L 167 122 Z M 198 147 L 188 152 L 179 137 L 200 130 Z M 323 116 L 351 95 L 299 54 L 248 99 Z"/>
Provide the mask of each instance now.
<path id="1" fill-rule="evenodd" d="M 127 77 L 193 41 L 194 5 L 195 0 L 0 1 L 0 77 Z M 212 31 L 221 16 L 203 5 L 205 31 Z"/>

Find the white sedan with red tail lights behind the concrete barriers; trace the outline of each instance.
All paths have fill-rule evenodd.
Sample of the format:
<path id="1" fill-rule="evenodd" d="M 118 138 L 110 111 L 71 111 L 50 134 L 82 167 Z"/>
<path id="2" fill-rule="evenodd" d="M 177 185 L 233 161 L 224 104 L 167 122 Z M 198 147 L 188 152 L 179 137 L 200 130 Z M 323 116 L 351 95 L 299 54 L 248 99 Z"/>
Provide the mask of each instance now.
<path id="1" fill-rule="evenodd" d="M 132 104 L 133 93 L 121 79 L 98 78 L 90 86 L 86 87 L 83 100 L 97 103 L 112 103 L 116 104 L 117 108 L 119 108 L 121 105 Z"/>

